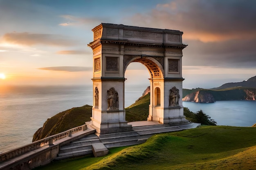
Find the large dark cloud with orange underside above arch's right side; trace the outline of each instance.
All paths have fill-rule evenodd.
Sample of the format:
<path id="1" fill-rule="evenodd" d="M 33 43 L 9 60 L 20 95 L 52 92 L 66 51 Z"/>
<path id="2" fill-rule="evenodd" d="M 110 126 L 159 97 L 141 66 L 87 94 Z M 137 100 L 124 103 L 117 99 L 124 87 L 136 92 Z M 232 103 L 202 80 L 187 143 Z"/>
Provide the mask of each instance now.
<path id="1" fill-rule="evenodd" d="M 126 18 L 130 23 L 184 31 L 184 38 L 204 42 L 256 38 L 256 1 L 174 0 L 148 13 Z M 129 21 L 130 20 L 130 21 Z"/>

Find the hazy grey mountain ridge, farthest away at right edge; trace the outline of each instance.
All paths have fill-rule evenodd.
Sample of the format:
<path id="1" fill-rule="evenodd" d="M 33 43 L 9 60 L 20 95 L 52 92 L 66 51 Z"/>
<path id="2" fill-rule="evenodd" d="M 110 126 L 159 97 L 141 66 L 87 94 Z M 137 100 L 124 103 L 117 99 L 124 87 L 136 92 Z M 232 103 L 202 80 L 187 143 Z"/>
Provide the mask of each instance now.
<path id="1" fill-rule="evenodd" d="M 236 83 L 226 83 L 221 85 L 220 87 L 211 88 L 210 90 L 222 90 L 226 88 L 232 87 L 251 87 L 256 88 L 256 76 L 249 78 L 247 81 L 236 82 Z"/>

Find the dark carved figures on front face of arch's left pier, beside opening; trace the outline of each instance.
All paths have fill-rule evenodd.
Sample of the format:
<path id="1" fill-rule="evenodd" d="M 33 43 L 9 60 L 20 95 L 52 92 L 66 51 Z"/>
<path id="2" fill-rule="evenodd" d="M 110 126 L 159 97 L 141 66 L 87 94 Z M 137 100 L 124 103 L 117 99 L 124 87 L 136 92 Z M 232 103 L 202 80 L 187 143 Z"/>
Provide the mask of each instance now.
<path id="1" fill-rule="evenodd" d="M 119 110 L 119 97 L 114 87 L 111 87 L 108 91 L 108 109 L 107 110 Z"/>

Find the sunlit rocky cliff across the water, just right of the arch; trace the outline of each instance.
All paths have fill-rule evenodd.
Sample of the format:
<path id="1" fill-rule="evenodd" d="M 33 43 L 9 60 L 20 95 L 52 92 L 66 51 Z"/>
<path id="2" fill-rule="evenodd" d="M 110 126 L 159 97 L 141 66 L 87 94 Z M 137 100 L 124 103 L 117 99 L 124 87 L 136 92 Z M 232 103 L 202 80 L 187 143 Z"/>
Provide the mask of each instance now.
<path id="1" fill-rule="evenodd" d="M 196 91 L 189 95 L 186 95 L 183 102 L 195 102 L 195 103 L 214 103 L 216 102 L 213 95 L 207 91 Z"/>

